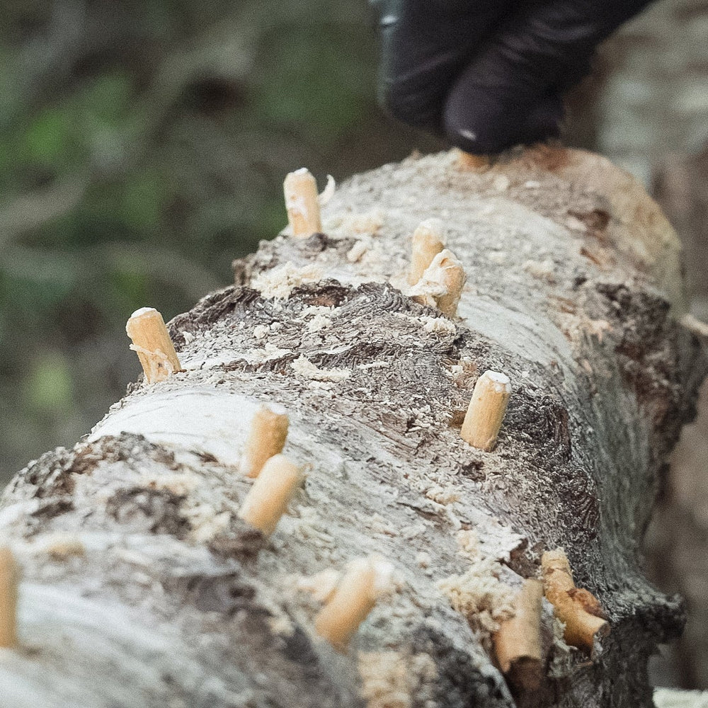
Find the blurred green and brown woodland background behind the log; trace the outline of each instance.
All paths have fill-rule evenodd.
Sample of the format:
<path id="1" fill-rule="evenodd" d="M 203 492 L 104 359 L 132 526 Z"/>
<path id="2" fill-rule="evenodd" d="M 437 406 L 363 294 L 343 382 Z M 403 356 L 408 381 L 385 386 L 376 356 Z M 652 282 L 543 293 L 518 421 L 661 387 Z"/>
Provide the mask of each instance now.
<path id="1" fill-rule="evenodd" d="M 377 109 L 363 0 L 0 0 L 0 16 L 4 482 L 135 379 L 133 310 L 183 312 L 282 228 L 285 173 L 324 185 L 441 144 Z M 690 155 L 708 144 L 708 5 L 659 0 L 610 40 L 566 139 L 656 190 L 705 317 L 708 158 Z M 708 685 L 707 667 L 680 682 Z"/>

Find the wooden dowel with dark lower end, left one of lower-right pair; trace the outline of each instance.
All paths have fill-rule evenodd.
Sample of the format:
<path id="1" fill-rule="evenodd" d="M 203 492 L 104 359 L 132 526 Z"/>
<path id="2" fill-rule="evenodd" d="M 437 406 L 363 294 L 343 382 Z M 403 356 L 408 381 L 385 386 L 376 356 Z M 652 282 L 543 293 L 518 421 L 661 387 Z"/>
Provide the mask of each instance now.
<path id="1" fill-rule="evenodd" d="M 543 583 L 527 580 L 515 601 L 515 615 L 494 635 L 496 659 L 508 681 L 520 691 L 541 685 L 541 600 Z"/>

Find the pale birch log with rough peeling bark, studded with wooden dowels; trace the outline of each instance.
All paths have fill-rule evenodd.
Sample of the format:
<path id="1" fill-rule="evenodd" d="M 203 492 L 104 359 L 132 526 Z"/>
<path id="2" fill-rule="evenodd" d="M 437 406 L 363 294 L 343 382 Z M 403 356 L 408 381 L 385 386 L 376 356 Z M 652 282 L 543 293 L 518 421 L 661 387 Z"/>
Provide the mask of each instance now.
<path id="1" fill-rule="evenodd" d="M 455 321 L 397 289 L 428 217 L 467 268 Z M 603 159 L 535 149 L 357 176 L 324 231 L 236 263 L 235 287 L 171 322 L 184 372 L 133 385 L 8 487 L 0 527 L 25 580 L 4 705 L 651 706 L 646 659 L 682 610 L 637 549 L 704 370 L 676 323 L 666 219 Z M 488 368 L 514 385 L 489 453 L 459 438 Z M 263 401 L 309 466 L 268 541 L 236 516 Z M 513 696 L 489 635 L 506 586 L 556 546 L 612 632 L 590 659 L 544 605 L 544 686 Z M 397 588 L 337 653 L 307 590 L 328 578 L 308 576 L 370 552 Z"/>

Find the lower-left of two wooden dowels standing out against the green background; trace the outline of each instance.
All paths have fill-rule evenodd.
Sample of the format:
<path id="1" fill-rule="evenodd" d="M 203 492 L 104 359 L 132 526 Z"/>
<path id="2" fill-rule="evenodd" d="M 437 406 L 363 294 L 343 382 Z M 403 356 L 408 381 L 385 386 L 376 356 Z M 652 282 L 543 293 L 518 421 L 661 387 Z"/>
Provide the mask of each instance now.
<path id="1" fill-rule="evenodd" d="M 125 331 L 149 384 L 164 381 L 173 372 L 182 370 L 165 321 L 154 307 L 142 307 L 133 312 Z"/>

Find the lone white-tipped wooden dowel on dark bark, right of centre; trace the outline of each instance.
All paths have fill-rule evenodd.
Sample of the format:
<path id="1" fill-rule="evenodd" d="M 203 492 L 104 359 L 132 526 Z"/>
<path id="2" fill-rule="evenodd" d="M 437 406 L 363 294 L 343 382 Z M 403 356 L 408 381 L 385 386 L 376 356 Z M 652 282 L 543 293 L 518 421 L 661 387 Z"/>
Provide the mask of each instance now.
<path id="1" fill-rule="evenodd" d="M 510 395 L 511 382 L 506 374 L 485 371 L 474 384 L 472 400 L 460 431 L 462 439 L 479 450 L 492 450 Z"/>

